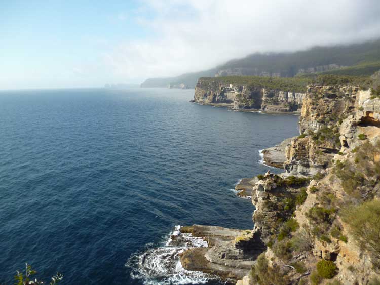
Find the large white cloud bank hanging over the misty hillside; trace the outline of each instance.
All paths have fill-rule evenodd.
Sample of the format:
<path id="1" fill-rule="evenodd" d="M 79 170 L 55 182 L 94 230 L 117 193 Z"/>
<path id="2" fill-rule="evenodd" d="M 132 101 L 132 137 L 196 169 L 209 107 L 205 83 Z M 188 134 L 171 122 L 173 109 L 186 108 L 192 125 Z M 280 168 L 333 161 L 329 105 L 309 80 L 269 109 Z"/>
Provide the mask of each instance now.
<path id="1" fill-rule="evenodd" d="M 155 15 L 138 18 L 155 36 L 120 43 L 104 55 L 116 80 L 179 75 L 253 52 L 380 36 L 378 0 L 141 0 L 140 9 Z"/>

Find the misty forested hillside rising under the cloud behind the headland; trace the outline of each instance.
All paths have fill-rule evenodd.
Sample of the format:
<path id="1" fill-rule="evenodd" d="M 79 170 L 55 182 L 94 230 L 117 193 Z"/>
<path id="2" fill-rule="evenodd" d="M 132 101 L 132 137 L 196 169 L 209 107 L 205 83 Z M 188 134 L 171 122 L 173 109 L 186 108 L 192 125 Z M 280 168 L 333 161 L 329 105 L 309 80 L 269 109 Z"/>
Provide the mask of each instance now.
<path id="1" fill-rule="evenodd" d="M 272 76 L 294 77 L 302 74 L 369 75 L 380 69 L 380 39 L 361 44 L 314 47 L 293 53 L 255 53 L 213 69 L 167 78 L 150 78 L 141 87 L 167 87 L 183 83 L 195 88 L 200 77 Z"/>

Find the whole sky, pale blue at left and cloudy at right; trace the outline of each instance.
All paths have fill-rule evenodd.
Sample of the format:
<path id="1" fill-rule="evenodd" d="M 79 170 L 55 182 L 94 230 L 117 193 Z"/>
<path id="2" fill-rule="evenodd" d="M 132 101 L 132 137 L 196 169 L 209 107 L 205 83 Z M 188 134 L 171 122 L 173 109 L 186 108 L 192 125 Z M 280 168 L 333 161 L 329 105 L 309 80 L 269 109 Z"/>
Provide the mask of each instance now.
<path id="1" fill-rule="evenodd" d="M 0 0 L 0 89 L 102 87 L 380 37 L 379 0 Z"/>

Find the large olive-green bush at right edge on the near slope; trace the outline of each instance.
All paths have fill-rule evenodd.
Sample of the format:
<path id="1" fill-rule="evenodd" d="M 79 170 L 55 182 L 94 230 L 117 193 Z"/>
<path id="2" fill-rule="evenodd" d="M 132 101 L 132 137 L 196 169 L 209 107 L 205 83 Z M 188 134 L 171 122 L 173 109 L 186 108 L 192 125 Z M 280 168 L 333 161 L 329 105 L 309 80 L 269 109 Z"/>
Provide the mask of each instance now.
<path id="1" fill-rule="evenodd" d="M 380 266 L 380 200 L 373 199 L 343 211 L 343 220 L 359 246 L 372 256 L 375 266 Z"/>

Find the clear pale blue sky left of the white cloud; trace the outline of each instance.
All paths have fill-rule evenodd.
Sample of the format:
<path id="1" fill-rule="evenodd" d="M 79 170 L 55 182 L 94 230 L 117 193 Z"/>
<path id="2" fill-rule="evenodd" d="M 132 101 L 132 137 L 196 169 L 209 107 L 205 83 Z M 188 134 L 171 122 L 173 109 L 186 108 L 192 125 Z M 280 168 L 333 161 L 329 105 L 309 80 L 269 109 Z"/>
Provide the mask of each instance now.
<path id="1" fill-rule="evenodd" d="M 0 5 L 0 74 L 3 80 L 9 77 L 10 88 L 13 80 L 22 83 L 21 88 L 29 84 L 54 87 L 59 81 L 54 77 L 60 77 L 65 86 L 72 73 L 81 73 L 81 65 L 101 61 L 102 52 L 110 47 L 149 33 L 133 19 L 139 7 L 133 1 L 107 5 L 95 1 L 4 1 Z M 104 74 L 99 75 L 102 80 Z"/>

